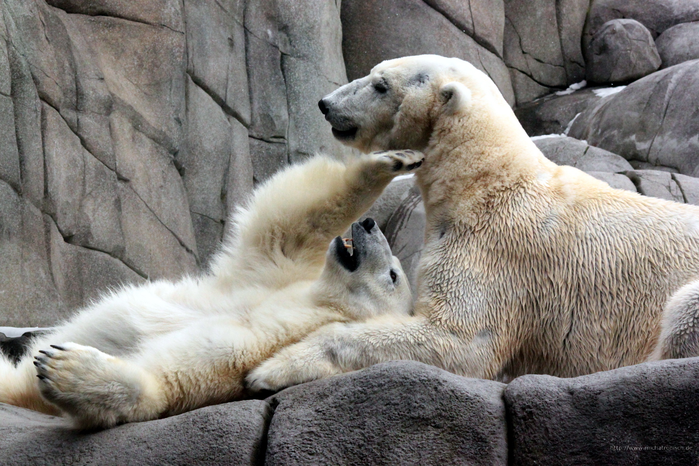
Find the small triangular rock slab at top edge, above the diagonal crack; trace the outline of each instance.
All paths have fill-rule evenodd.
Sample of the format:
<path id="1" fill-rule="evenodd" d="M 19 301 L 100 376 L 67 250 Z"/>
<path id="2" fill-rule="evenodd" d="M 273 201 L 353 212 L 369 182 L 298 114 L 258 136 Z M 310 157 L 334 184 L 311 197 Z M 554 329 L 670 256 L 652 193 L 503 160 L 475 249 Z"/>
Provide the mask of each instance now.
<path id="1" fill-rule="evenodd" d="M 503 0 L 426 0 L 454 26 L 498 57 L 503 56 L 505 2 Z"/>

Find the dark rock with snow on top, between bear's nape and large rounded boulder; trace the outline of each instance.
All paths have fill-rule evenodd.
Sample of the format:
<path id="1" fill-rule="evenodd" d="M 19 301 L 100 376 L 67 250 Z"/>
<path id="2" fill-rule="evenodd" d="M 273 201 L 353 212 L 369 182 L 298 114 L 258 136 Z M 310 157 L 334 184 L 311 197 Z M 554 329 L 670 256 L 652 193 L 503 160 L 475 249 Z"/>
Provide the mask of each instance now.
<path id="1" fill-rule="evenodd" d="M 563 134 L 577 115 L 599 100 L 594 89 L 570 89 L 525 103 L 514 109 L 514 115 L 529 136 Z"/>

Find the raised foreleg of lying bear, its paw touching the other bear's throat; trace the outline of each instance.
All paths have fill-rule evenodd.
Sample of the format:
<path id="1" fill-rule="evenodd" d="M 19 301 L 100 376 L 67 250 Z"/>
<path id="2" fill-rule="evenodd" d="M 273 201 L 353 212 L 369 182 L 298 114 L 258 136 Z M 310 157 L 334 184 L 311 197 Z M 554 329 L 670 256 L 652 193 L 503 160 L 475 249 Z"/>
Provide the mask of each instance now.
<path id="1" fill-rule="evenodd" d="M 315 279 L 329 242 L 347 230 L 397 175 L 417 169 L 420 152 L 383 151 L 345 163 L 317 156 L 254 192 L 212 265 L 222 280 L 287 286 Z"/>

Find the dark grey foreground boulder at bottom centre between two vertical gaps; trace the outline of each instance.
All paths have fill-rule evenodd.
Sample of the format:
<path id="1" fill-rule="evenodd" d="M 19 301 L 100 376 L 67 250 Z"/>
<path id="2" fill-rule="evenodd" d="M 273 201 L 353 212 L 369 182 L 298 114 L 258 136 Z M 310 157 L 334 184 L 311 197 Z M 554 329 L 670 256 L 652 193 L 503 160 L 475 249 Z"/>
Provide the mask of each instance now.
<path id="1" fill-rule="evenodd" d="M 506 465 L 505 385 L 393 361 L 268 398 L 268 466 Z"/>

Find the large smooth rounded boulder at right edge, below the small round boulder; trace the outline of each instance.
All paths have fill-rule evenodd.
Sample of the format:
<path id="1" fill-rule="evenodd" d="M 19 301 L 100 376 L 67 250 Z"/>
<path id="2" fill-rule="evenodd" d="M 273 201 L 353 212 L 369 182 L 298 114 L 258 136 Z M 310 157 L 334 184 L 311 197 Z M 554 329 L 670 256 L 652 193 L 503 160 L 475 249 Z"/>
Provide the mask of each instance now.
<path id="1" fill-rule="evenodd" d="M 699 176 L 699 60 L 656 71 L 601 99 L 568 136 L 627 160 Z"/>

